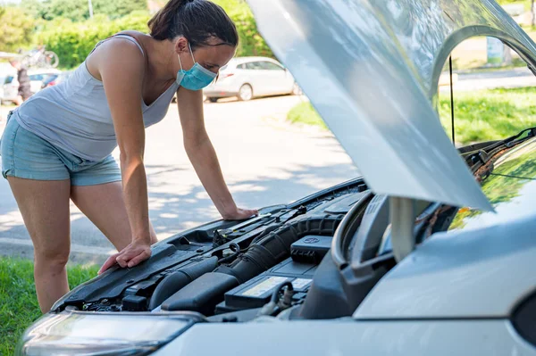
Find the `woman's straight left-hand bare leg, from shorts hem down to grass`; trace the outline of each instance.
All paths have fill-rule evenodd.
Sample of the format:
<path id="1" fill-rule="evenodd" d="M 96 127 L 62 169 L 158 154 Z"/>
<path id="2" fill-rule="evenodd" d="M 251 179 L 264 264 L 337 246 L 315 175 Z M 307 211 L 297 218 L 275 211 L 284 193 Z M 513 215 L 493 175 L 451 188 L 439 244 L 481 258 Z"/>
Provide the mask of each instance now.
<path id="1" fill-rule="evenodd" d="M 34 244 L 34 277 L 39 306 L 50 310 L 69 292 L 65 265 L 69 260 L 71 182 L 8 177 Z"/>

